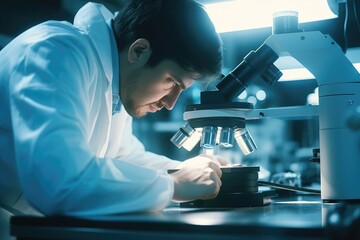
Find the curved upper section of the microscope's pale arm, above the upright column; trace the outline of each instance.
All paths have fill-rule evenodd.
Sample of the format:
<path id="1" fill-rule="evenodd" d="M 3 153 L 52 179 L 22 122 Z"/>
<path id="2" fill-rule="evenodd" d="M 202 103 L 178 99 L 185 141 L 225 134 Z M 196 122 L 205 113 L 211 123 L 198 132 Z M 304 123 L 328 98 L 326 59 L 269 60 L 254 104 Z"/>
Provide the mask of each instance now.
<path id="1" fill-rule="evenodd" d="M 264 45 L 279 57 L 291 56 L 298 60 L 315 76 L 319 86 L 360 80 L 359 73 L 342 49 L 329 35 L 321 32 L 275 34 L 268 37 Z"/>

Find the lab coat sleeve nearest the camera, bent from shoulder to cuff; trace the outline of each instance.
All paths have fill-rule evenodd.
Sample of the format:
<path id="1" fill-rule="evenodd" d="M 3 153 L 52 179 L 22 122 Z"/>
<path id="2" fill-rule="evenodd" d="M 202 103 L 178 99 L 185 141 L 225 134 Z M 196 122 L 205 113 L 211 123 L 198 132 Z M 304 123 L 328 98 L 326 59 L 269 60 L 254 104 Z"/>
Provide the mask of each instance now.
<path id="1" fill-rule="evenodd" d="M 89 149 L 87 81 L 95 65 L 77 37 L 63 34 L 66 41 L 24 48 L 11 76 L 16 161 L 27 200 L 46 215 L 163 209 L 173 195 L 168 174 Z"/>

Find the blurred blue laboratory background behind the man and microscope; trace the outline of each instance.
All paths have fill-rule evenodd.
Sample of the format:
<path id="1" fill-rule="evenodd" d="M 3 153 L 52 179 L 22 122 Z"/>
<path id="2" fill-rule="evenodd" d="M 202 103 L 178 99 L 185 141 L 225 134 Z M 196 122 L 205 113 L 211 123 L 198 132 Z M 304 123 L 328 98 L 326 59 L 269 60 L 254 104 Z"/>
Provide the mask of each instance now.
<path id="1" fill-rule="evenodd" d="M 0 49 L 29 27 L 49 20 L 72 22 L 82 0 L 12 0 L 0 2 Z M 127 0 L 96 1 L 112 11 L 121 9 Z M 346 58 L 360 71 L 360 1 L 358 0 L 198 0 L 203 4 L 220 33 L 224 75 L 236 68 L 247 54 L 255 51 L 274 34 L 274 13 L 296 12 L 299 32 L 320 31 L 341 47 Z M 267 5 L 269 4 L 269 5 Z M 204 39 L 206 41 L 206 39 Z M 314 53 L 316 54 L 316 53 Z M 314 75 L 294 58 L 280 58 L 275 63 L 282 72 L 269 85 L 254 81 L 241 92 L 237 101 L 250 102 L 255 109 L 319 105 L 318 83 Z M 184 91 L 174 109 L 134 119 L 134 134 L 149 151 L 184 160 L 201 153 L 196 144 L 191 151 L 174 145 L 171 138 L 186 124 L 186 106 L 200 103 L 200 92 L 214 89 L 217 82 L 195 83 Z M 237 144 L 216 152 L 234 165 L 259 166 L 259 178 L 277 184 L 310 189 L 320 188 L 319 118 L 310 116 L 258 117 L 246 121 L 246 128 L 256 143 L 252 154 L 244 154 Z M 296 112 L 296 111 L 295 111 Z M 272 114 L 272 112 L 270 112 Z M 280 114 L 280 115 L 281 115 Z M 276 115 L 276 112 L 275 112 Z M 301 113 L 299 114 L 301 115 Z M 357 118 L 359 118 L 358 113 Z M 358 131 L 359 126 L 354 127 Z M 360 147 L 359 147 L 360 148 Z M 360 159 L 360 156 L 358 156 Z M 289 194 L 282 192 L 282 194 Z M 359 236 L 359 235 L 357 235 Z M 265 238 L 264 238 L 265 239 Z M 300 238 L 299 238 L 300 239 Z"/>

